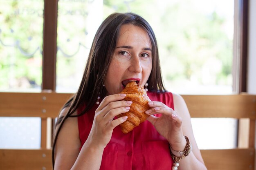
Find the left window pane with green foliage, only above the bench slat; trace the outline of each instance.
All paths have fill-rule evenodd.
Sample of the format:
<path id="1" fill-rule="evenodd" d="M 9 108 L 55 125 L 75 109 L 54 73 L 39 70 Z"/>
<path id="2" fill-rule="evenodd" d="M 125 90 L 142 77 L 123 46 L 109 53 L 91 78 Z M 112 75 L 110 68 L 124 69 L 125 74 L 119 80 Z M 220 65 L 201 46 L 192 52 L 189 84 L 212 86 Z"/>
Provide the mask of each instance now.
<path id="1" fill-rule="evenodd" d="M 40 92 L 44 1 L 0 4 L 0 91 Z"/>

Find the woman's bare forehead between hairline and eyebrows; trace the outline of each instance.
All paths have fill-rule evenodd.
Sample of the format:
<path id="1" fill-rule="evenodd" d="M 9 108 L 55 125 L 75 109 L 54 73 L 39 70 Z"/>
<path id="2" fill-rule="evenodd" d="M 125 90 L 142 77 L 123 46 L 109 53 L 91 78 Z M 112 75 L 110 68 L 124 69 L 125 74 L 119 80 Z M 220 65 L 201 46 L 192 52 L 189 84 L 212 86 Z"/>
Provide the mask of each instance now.
<path id="1" fill-rule="evenodd" d="M 151 47 L 151 41 L 148 33 L 140 26 L 133 24 L 124 24 L 121 26 L 119 36 L 117 38 L 118 45 L 143 44 Z M 141 45 L 142 45 L 141 44 Z"/>

